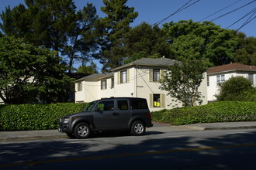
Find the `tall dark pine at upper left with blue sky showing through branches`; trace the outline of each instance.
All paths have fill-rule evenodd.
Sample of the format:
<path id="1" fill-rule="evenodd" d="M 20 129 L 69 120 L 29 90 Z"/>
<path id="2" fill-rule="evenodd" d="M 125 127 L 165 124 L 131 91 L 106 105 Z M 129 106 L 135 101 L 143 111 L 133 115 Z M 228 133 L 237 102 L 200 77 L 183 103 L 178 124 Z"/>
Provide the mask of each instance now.
<path id="1" fill-rule="evenodd" d="M 73 0 L 25 0 L 25 3 L 26 6 L 7 7 L 0 15 L 0 28 L 6 36 L 22 38 L 66 56 L 69 72 L 74 59 L 85 59 L 95 52 L 98 16 L 92 4 L 76 12 Z"/>

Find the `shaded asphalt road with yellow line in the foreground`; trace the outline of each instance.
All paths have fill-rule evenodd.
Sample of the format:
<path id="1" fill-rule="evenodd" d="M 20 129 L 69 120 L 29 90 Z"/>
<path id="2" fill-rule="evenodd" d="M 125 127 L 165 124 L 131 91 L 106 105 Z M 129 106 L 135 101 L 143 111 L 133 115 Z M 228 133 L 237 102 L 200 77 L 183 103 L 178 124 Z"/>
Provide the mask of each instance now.
<path id="1" fill-rule="evenodd" d="M 255 169 L 256 129 L 5 141 L 0 169 Z"/>

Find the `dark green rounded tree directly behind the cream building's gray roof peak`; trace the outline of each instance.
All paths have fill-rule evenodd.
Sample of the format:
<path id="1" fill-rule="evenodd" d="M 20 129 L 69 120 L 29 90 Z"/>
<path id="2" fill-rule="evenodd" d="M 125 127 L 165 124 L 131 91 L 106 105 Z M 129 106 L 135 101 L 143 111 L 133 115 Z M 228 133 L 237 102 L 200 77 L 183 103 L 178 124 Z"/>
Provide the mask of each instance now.
<path id="1" fill-rule="evenodd" d="M 126 63 L 142 57 L 173 57 L 170 46 L 165 41 L 164 32 L 158 26 L 152 27 L 146 22 L 126 32 L 123 42 Z"/>

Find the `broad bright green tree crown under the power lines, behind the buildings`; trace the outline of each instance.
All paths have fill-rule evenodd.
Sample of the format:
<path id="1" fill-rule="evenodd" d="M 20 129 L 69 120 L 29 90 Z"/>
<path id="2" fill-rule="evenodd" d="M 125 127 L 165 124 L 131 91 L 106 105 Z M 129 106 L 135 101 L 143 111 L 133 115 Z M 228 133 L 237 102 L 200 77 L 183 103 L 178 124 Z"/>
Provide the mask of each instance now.
<path id="1" fill-rule="evenodd" d="M 177 42 L 177 39 L 184 40 L 186 36 L 200 39 L 197 47 L 200 56 L 209 59 L 215 66 L 234 61 L 234 52 L 237 47 L 234 33 L 229 29 L 216 26 L 213 22 L 200 23 L 192 20 L 170 22 L 164 24 L 163 30 L 171 46 Z"/>

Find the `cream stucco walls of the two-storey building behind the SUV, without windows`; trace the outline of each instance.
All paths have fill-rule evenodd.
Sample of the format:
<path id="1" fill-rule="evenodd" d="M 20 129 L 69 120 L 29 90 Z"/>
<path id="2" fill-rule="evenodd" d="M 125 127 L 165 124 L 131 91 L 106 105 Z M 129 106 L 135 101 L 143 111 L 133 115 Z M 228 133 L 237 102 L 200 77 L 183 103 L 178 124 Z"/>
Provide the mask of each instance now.
<path id="1" fill-rule="evenodd" d="M 147 104 L 150 107 L 150 94 L 164 94 L 164 106 L 165 107 L 150 107 L 150 111 L 161 110 L 161 109 L 171 109 L 174 107 L 182 107 L 182 102 L 176 101 L 174 98 L 168 96 L 168 92 L 161 90 L 159 87 L 161 83 L 150 81 L 150 70 L 160 69 L 164 73 L 163 67 L 148 67 L 148 66 L 134 66 L 130 68 L 125 68 L 123 70 L 129 70 L 129 81 L 126 83 L 119 83 L 119 71 L 114 73 L 114 87 L 111 87 L 111 78 L 107 78 L 107 88 L 101 90 L 101 80 L 98 82 L 88 82 L 83 81 L 82 90 L 77 91 L 76 89 L 76 102 L 84 101 L 90 102 L 92 100 L 99 100 L 106 97 L 142 97 L 147 99 Z M 165 69 L 166 70 L 166 69 Z M 207 104 L 207 80 L 206 73 L 204 73 L 204 80 L 202 80 L 202 85 L 199 90 L 202 93 L 202 104 Z M 102 79 L 104 80 L 104 79 Z M 77 85 L 76 85 L 77 87 Z"/>

